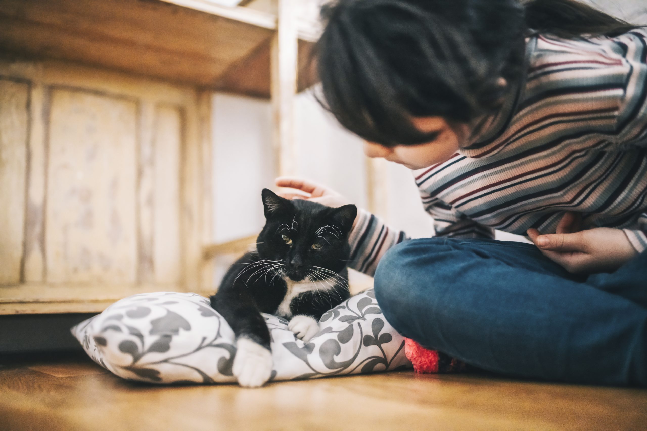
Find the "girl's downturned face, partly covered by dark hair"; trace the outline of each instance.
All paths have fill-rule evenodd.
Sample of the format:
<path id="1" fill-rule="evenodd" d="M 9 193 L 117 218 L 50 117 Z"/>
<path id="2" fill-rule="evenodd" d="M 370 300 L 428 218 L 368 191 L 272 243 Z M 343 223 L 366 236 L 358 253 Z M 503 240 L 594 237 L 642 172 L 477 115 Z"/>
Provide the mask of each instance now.
<path id="1" fill-rule="evenodd" d="M 400 163 L 409 169 L 422 169 L 452 157 L 468 136 L 467 125 L 450 127 L 442 117 L 415 118 L 413 124 L 422 132 L 439 132 L 432 142 L 418 145 L 384 147 L 378 143 L 364 142 L 364 154 Z"/>

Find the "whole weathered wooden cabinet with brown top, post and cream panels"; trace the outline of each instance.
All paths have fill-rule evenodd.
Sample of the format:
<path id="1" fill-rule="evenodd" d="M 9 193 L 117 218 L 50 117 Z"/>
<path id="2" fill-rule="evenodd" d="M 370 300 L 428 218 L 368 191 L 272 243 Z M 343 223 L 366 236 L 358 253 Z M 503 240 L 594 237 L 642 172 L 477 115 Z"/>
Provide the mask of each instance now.
<path id="1" fill-rule="evenodd" d="M 297 27 L 208 0 L 0 0 L 0 314 L 209 293 L 212 92 L 272 92 L 289 148 Z"/>

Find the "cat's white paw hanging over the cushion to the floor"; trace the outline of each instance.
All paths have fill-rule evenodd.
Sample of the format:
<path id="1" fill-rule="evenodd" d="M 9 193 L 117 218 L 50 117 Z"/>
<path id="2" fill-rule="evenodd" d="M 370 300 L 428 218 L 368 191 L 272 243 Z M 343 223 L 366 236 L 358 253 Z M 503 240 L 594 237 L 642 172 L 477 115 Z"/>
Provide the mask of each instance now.
<path id="1" fill-rule="evenodd" d="M 236 356 L 232 372 L 241 386 L 258 388 L 272 374 L 272 352 L 248 338 L 236 341 Z"/>

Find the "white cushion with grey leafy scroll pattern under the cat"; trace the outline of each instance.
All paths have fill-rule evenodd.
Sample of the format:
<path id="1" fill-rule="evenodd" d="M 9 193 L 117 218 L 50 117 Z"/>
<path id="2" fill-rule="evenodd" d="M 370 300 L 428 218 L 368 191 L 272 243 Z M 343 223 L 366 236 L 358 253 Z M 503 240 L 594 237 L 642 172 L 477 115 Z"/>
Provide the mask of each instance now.
<path id="1" fill-rule="evenodd" d="M 404 339 L 388 324 L 373 289 L 325 313 L 320 332 L 297 339 L 281 317 L 264 314 L 272 339 L 271 380 L 411 368 Z M 195 293 L 141 293 L 71 328 L 85 352 L 124 379 L 153 383 L 229 383 L 234 332 Z"/>

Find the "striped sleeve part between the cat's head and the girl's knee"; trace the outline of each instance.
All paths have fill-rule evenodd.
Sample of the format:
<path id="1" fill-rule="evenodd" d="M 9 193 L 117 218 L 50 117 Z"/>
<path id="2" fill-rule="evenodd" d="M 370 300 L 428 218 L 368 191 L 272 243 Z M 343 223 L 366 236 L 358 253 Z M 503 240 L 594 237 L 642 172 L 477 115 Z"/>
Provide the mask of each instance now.
<path id="1" fill-rule="evenodd" d="M 384 253 L 406 239 L 409 238 L 403 231 L 391 229 L 377 216 L 360 209 L 348 236 L 351 247 L 348 266 L 372 277 Z"/>

